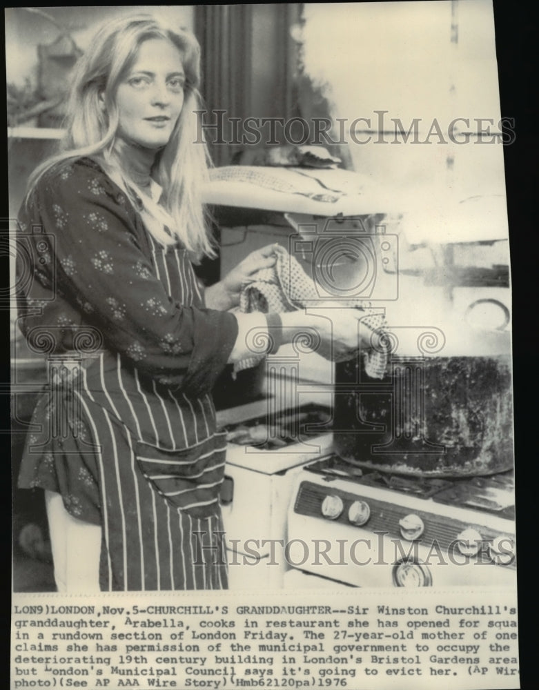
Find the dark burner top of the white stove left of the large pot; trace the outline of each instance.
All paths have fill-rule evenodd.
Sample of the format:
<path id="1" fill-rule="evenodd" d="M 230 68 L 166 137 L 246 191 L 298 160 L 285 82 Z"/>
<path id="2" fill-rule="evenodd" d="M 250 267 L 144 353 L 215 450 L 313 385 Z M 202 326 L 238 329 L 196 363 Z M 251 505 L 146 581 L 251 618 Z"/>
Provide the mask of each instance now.
<path id="1" fill-rule="evenodd" d="M 241 424 L 225 426 L 228 443 L 253 446 L 262 451 L 279 451 L 293 444 L 331 431 L 331 410 L 317 404 L 285 409 L 276 415 L 262 415 Z"/>

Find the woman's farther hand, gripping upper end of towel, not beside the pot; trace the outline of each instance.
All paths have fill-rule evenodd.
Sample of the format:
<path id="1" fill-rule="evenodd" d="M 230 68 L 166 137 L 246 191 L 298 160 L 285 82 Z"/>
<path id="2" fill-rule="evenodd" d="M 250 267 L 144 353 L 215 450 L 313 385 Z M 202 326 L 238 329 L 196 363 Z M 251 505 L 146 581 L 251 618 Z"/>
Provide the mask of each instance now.
<path id="1" fill-rule="evenodd" d="M 242 288 L 255 280 L 259 270 L 274 266 L 276 260 L 274 244 L 268 244 L 262 249 L 251 252 L 221 281 L 206 288 L 206 306 L 221 311 L 237 306 Z"/>

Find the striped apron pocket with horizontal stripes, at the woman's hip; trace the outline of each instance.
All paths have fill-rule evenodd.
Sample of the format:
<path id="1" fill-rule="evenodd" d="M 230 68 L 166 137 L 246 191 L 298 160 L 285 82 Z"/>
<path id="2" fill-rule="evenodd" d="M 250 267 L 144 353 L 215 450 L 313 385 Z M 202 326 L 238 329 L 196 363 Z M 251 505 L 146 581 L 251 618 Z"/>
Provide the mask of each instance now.
<path id="1" fill-rule="evenodd" d="M 135 457 L 153 489 L 176 509 L 193 517 L 219 512 L 226 432 L 217 432 L 186 449 L 164 449 L 138 440 Z"/>

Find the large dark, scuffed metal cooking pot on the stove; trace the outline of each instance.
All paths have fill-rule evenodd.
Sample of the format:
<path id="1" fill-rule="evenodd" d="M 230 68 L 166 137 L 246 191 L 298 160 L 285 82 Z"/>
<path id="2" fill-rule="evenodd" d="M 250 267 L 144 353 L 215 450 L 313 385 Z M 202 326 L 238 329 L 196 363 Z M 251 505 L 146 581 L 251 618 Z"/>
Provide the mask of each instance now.
<path id="1" fill-rule="evenodd" d="M 356 361 L 337 364 L 335 450 L 379 471 L 459 477 L 513 467 L 507 355 L 393 357 L 369 386 Z"/>

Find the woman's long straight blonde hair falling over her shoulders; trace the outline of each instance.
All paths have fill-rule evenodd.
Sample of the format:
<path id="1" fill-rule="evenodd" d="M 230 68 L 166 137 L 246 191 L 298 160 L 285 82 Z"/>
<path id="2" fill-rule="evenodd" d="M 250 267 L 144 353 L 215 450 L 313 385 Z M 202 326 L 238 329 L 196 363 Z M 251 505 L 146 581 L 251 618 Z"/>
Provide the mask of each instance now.
<path id="1" fill-rule="evenodd" d="M 206 145 L 200 143 L 193 112 L 200 109 L 202 102 L 198 92 L 199 44 L 190 31 L 165 26 L 152 14 L 121 17 L 108 21 L 98 30 L 74 70 L 65 121 L 66 136 L 61 141 L 60 152 L 36 168 L 30 177 L 29 189 L 35 187 L 44 173 L 64 161 L 89 156 L 97 159 L 128 197 L 135 200 L 128 172 L 118 168 L 110 156 L 119 121 L 115 95 L 139 46 L 152 38 L 168 39 L 182 54 L 186 75 L 184 106 L 168 144 L 158 152 L 153 167 L 153 177 L 163 188 L 161 204 L 157 206 L 149 195 L 139 190 L 137 195 L 144 204 L 148 230 L 161 244 L 179 239 L 196 257 L 215 256 L 201 197 L 210 159 Z M 163 224 L 168 226 L 173 237 L 165 232 Z"/>

